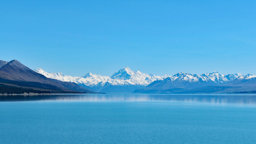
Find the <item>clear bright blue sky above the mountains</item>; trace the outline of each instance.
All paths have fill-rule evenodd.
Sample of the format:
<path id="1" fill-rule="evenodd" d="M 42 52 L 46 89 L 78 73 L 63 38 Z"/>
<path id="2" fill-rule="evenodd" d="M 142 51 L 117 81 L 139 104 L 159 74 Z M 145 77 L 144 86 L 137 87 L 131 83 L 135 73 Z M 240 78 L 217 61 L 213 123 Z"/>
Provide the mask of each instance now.
<path id="1" fill-rule="evenodd" d="M 13 59 L 71 76 L 256 74 L 256 1 L 1 1 Z"/>

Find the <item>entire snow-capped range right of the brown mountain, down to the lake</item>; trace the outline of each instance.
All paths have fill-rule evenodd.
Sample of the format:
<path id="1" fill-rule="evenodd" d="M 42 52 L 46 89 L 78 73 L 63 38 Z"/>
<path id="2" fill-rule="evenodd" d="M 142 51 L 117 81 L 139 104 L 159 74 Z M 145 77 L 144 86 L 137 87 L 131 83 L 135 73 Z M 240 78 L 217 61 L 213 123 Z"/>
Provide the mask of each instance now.
<path id="1" fill-rule="evenodd" d="M 133 72 L 125 67 L 112 76 L 87 73 L 82 77 L 66 76 L 62 73 L 45 72 L 35 69 L 48 78 L 74 82 L 95 92 L 104 93 L 254 93 L 256 75 L 241 73 L 202 75 L 179 72 L 173 76 L 155 76 L 140 71 Z"/>

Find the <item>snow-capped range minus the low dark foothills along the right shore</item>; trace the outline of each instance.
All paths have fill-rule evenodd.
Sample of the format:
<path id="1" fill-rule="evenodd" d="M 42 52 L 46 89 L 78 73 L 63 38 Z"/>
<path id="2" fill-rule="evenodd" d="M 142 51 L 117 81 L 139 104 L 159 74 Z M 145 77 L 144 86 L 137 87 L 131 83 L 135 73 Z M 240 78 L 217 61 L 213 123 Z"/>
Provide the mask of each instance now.
<path id="1" fill-rule="evenodd" d="M 90 72 L 82 77 L 66 76 L 61 72 L 45 72 L 42 68 L 35 69 L 35 72 L 43 74 L 48 78 L 74 82 L 92 91 L 103 93 L 131 93 L 136 89 L 138 89 L 136 92 L 146 93 L 153 91 L 162 92 L 170 89 L 177 91 L 180 89 L 225 85 L 234 80 L 256 78 L 256 75 L 251 74 L 245 76 L 241 73 L 225 75 L 218 72 L 204 73 L 201 75 L 179 72 L 173 76 L 155 76 L 140 71 L 132 71 L 128 67 L 120 69 L 110 77 L 92 74 Z"/>

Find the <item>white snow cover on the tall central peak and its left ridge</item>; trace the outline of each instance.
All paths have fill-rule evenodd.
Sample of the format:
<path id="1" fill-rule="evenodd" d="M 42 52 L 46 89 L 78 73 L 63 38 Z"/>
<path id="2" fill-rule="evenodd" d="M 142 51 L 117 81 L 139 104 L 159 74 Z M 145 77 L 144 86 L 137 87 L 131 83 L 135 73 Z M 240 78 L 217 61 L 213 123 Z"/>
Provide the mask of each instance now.
<path id="1" fill-rule="evenodd" d="M 67 81 L 67 82 L 74 82 L 76 84 L 85 84 L 86 86 L 89 86 L 89 87 L 94 87 L 99 85 L 104 86 L 106 84 L 147 86 L 148 84 L 150 84 L 155 80 L 163 80 L 164 78 L 168 77 L 167 75 L 164 75 L 164 76 L 148 75 L 140 71 L 133 72 L 128 67 L 120 69 L 118 72 L 115 72 L 111 77 L 92 74 L 91 72 L 87 73 L 83 77 L 76 77 L 76 76 L 72 77 L 72 76 L 63 75 L 60 72 L 59 73 L 45 72 L 42 68 L 37 68 L 34 71 L 48 78 Z"/>

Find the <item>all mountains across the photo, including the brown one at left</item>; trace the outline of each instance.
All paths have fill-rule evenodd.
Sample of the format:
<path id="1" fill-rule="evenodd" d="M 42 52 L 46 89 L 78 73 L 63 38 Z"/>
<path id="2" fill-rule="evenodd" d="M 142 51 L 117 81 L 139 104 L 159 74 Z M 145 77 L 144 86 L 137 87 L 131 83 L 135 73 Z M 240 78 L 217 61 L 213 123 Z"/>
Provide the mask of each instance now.
<path id="1" fill-rule="evenodd" d="M 155 76 L 125 67 L 112 76 L 89 72 L 80 77 L 0 60 L 1 93 L 256 93 L 256 75 L 179 72 Z"/>

